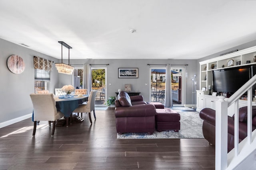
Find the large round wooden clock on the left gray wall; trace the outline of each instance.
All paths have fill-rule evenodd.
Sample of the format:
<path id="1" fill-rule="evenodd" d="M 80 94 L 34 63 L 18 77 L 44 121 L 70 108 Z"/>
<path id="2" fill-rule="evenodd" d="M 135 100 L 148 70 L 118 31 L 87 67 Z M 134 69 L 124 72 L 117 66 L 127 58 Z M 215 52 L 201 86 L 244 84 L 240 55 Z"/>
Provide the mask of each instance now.
<path id="1" fill-rule="evenodd" d="M 7 66 L 14 74 L 20 74 L 25 70 L 25 63 L 18 55 L 11 55 L 7 60 Z"/>

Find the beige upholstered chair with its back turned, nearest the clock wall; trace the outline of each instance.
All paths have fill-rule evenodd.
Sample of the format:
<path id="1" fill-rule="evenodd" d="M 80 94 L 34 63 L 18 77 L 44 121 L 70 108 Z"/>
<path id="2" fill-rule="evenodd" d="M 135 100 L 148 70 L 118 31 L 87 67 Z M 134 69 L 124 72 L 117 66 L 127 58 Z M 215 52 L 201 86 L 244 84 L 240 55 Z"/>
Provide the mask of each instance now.
<path id="1" fill-rule="evenodd" d="M 37 121 L 48 121 L 49 127 L 51 126 L 51 121 L 53 121 L 52 127 L 52 136 L 55 131 L 56 120 L 62 118 L 64 114 L 60 111 L 57 111 L 56 102 L 53 98 L 53 94 L 30 94 L 30 98 L 33 104 L 33 121 L 34 121 L 34 130 L 33 136 L 36 134 L 36 124 Z"/>

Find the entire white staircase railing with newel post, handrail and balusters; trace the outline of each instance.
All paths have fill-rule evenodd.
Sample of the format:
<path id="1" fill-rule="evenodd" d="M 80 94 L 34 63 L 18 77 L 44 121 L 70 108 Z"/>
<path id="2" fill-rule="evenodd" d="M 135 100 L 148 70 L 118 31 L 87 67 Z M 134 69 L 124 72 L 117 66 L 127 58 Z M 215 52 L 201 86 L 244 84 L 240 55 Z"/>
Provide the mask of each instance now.
<path id="1" fill-rule="evenodd" d="M 215 169 L 234 169 L 248 155 L 256 150 L 256 131 L 252 133 L 252 86 L 256 83 L 256 75 L 230 98 L 218 96 L 216 101 L 216 137 L 215 137 Z M 239 98 L 247 91 L 247 137 L 239 143 L 238 109 Z M 234 149 L 228 150 L 228 107 L 234 103 Z M 247 142 L 246 142 L 247 140 Z"/>

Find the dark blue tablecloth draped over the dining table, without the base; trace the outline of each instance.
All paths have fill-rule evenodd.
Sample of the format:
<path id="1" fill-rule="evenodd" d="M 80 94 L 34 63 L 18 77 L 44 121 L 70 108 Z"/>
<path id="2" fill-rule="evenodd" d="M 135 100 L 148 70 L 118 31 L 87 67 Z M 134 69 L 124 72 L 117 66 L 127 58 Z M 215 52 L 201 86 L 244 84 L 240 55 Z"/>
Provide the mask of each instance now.
<path id="1" fill-rule="evenodd" d="M 69 117 L 71 113 L 78 107 L 79 104 L 82 104 L 84 102 L 88 101 L 89 95 L 83 95 L 82 98 L 77 98 L 72 96 L 71 98 L 64 98 L 64 96 L 58 96 L 59 101 L 56 101 L 56 108 L 61 113 L 65 115 L 65 117 Z M 32 113 L 32 121 L 34 121 L 34 110 Z"/>

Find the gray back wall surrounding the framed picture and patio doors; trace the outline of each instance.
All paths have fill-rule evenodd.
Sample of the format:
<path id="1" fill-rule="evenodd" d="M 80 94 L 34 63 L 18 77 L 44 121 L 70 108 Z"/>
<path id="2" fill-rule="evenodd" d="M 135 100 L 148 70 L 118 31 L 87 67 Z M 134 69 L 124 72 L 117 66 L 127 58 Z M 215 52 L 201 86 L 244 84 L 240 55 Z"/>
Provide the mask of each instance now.
<path id="1" fill-rule="evenodd" d="M 161 67 L 161 65 L 148 66 L 147 64 L 188 64 L 188 81 L 185 83 L 185 104 L 192 104 L 192 82 L 191 76 L 196 74 L 196 60 L 146 60 L 146 59 L 101 59 L 101 60 L 71 60 L 70 64 L 109 64 L 94 65 L 94 67 L 107 68 L 107 98 L 116 96 L 118 89 L 124 90 L 125 84 L 132 84 L 132 91 L 138 90 L 146 102 L 150 99 L 150 67 Z M 173 66 L 178 67 L 178 66 Z M 182 66 L 181 66 L 182 67 Z M 184 66 L 185 67 L 185 66 Z M 138 68 L 138 78 L 118 78 L 118 68 Z M 109 86 L 111 83 L 111 86 Z M 148 86 L 145 86 L 145 83 Z"/>

